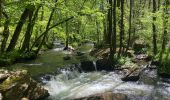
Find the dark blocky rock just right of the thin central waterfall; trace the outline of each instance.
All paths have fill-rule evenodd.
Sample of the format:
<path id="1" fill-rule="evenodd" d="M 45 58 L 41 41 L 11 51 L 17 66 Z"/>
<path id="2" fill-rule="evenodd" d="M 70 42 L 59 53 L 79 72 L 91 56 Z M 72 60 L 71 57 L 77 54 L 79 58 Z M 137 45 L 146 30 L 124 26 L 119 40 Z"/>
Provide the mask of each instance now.
<path id="1" fill-rule="evenodd" d="M 96 61 L 96 67 L 98 71 L 113 71 L 113 67 L 111 66 L 111 62 L 108 59 L 99 59 Z"/>

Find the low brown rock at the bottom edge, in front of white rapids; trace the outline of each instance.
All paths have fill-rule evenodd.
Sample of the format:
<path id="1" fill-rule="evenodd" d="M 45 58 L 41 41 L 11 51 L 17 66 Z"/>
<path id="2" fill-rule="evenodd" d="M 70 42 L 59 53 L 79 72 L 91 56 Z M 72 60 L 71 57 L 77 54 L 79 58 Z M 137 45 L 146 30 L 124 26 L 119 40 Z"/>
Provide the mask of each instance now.
<path id="1" fill-rule="evenodd" d="M 92 95 L 89 97 L 77 98 L 74 100 L 129 100 L 127 95 L 122 93 L 107 92 L 103 94 Z"/>

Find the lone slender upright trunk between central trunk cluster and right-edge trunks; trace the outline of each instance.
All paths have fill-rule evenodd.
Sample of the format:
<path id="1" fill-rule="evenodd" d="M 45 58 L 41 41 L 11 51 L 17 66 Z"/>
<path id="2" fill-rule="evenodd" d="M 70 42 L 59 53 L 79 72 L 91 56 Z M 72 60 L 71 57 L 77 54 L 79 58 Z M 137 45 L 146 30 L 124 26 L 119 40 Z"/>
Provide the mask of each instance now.
<path id="1" fill-rule="evenodd" d="M 156 0 L 153 0 L 153 14 L 156 13 Z M 152 23 L 152 32 L 153 32 L 153 53 L 157 54 L 157 34 L 156 34 L 156 25 L 155 25 L 156 17 L 153 16 L 153 23 Z"/>

